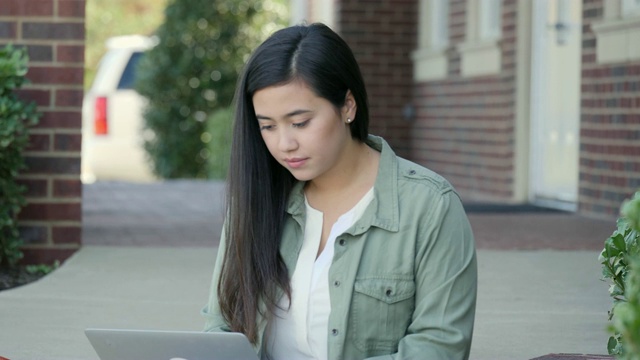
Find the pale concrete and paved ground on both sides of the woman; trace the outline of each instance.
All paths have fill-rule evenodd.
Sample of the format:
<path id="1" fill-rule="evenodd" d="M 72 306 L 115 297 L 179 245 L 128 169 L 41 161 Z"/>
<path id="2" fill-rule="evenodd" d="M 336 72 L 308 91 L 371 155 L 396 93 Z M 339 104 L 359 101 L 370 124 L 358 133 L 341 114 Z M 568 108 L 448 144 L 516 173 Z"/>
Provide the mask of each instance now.
<path id="1" fill-rule="evenodd" d="M 200 330 L 223 184 L 84 187 L 85 246 L 36 283 L 0 292 L 0 356 L 97 359 L 87 327 Z M 615 224 L 564 213 L 470 213 L 479 294 L 472 359 L 605 354 L 597 255 Z"/>

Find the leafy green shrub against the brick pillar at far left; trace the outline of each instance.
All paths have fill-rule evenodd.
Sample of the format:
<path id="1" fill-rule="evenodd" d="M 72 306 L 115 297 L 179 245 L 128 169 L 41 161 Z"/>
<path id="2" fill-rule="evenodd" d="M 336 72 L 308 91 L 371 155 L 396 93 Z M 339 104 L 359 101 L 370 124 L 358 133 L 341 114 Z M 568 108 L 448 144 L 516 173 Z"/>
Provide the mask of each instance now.
<path id="1" fill-rule="evenodd" d="M 38 122 L 33 103 L 17 98 L 14 91 L 25 83 L 29 59 L 24 48 L 0 49 L 0 266 L 13 266 L 22 258 L 17 216 L 25 205 L 24 186 L 16 182 L 25 168 L 23 151 L 28 128 Z"/>

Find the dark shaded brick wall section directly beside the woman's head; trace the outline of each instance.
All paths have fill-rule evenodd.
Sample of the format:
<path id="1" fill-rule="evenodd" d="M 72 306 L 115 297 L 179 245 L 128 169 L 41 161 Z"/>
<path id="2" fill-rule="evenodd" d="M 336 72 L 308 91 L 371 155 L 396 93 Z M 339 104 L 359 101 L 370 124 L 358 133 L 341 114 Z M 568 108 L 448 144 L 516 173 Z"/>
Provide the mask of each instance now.
<path id="1" fill-rule="evenodd" d="M 337 30 L 353 49 L 369 96 L 370 129 L 401 156 L 409 154 L 411 102 L 418 28 L 417 0 L 342 0 L 336 3 Z"/>

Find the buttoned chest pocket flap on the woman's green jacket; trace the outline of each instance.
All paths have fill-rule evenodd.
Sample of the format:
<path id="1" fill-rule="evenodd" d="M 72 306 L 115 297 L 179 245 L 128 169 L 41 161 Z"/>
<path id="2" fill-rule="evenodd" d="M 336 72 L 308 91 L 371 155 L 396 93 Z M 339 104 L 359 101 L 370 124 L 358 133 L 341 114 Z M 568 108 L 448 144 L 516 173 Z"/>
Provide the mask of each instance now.
<path id="1" fill-rule="evenodd" d="M 414 296 L 416 285 L 406 279 L 361 279 L 356 280 L 355 291 L 393 304 Z"/>

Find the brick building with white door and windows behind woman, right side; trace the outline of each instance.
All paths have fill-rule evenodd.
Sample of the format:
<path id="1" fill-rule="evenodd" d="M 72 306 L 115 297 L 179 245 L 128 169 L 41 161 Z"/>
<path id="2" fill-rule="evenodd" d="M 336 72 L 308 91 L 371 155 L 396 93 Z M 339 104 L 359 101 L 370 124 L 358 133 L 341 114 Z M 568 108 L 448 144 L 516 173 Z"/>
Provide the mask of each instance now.
<path id="1" fill-rule="evenodd" d="M 466 202 L 615 218 L 640 189 L 640 2 L 293 0 L 352 46 L 371 132 Z"/>

